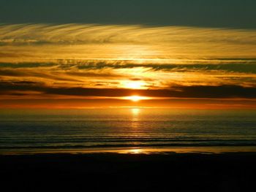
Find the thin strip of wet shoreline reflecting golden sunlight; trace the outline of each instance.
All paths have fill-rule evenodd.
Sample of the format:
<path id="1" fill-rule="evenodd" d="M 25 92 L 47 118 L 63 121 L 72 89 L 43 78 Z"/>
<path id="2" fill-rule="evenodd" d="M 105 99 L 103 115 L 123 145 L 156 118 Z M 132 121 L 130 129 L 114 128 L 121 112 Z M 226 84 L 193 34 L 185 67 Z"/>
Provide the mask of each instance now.
<path id="1" fill-rule="evenodd" d="M 37 155 L 37 154 L 94 154 L 94 153 L 117 153 L 117 154 L 165 154 L 165 153 L 256 153 L 256 146 L 204 146 L 204 147 L 105 147 L 86 149 L 63 149 L 63 150 L 0 150 L 0 155 Z"/>

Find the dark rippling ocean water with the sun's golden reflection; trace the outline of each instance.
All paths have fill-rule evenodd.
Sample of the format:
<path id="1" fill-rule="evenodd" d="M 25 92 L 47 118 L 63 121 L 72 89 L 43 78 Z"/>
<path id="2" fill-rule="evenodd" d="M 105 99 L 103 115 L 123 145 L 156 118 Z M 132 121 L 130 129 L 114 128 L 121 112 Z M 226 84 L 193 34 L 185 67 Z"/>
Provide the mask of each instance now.
<path id="1" fill-rule="evenodd" d="M 0 153 L 255 147 L 255 110 L 1 110 Z"/>

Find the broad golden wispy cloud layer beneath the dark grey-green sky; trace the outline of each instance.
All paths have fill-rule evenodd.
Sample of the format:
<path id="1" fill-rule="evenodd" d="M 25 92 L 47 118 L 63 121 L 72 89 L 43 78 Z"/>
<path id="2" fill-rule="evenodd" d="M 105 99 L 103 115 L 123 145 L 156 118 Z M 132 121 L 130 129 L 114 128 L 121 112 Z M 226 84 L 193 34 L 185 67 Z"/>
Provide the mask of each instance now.
<path id="1" fill-rule="evenodd" d="M 0 26 L 0 61 L 255 58 L 255 42 L 255 30 L 23 24 Z"/>

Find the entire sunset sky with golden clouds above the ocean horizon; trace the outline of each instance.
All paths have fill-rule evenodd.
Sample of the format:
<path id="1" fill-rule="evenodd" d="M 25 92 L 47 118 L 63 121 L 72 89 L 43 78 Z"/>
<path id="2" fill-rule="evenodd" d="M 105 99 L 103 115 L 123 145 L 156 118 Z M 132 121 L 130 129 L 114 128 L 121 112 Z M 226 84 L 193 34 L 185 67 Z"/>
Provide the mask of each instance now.
<path id="1" fill-rule="evenodd" d="M 1 0 L 0 107 L 256 108 L 255 8 Z"/>

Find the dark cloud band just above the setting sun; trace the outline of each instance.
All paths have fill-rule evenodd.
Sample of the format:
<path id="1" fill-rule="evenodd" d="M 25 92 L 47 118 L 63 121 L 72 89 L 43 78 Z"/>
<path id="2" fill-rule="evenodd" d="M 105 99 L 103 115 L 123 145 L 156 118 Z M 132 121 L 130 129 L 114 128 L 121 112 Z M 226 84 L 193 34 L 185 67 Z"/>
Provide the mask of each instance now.
<path id="1" fill-rule="evenodd" d="M 59 96 L 106 96 L 122 97 L 131 95 L 163 97 L 163 98 L 244 98 L 256 99 L 256 87 L 245 88 L 241 86 L 176 86 L 172 89 L 162 90 L 131 90 L 122 88 L 52 88 L 39 82 L 0 82 L 0 93 L 10 94 L 12 91 L 39 91 L 47 95 Z"/>

